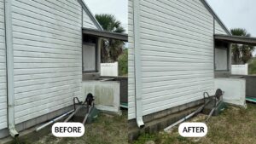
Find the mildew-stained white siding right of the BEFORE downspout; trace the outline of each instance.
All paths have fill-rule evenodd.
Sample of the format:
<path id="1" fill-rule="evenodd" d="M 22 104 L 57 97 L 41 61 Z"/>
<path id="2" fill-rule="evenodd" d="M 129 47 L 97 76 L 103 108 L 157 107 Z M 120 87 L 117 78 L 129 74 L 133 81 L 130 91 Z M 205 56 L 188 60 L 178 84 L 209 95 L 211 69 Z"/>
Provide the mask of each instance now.
<path id="1" fill-rule="evenodd" d="M 82 12 L 73 0 L 15 0 L 12 9 L 19 124 L 70 106 L 73 96 L 80 96 Z"/>

